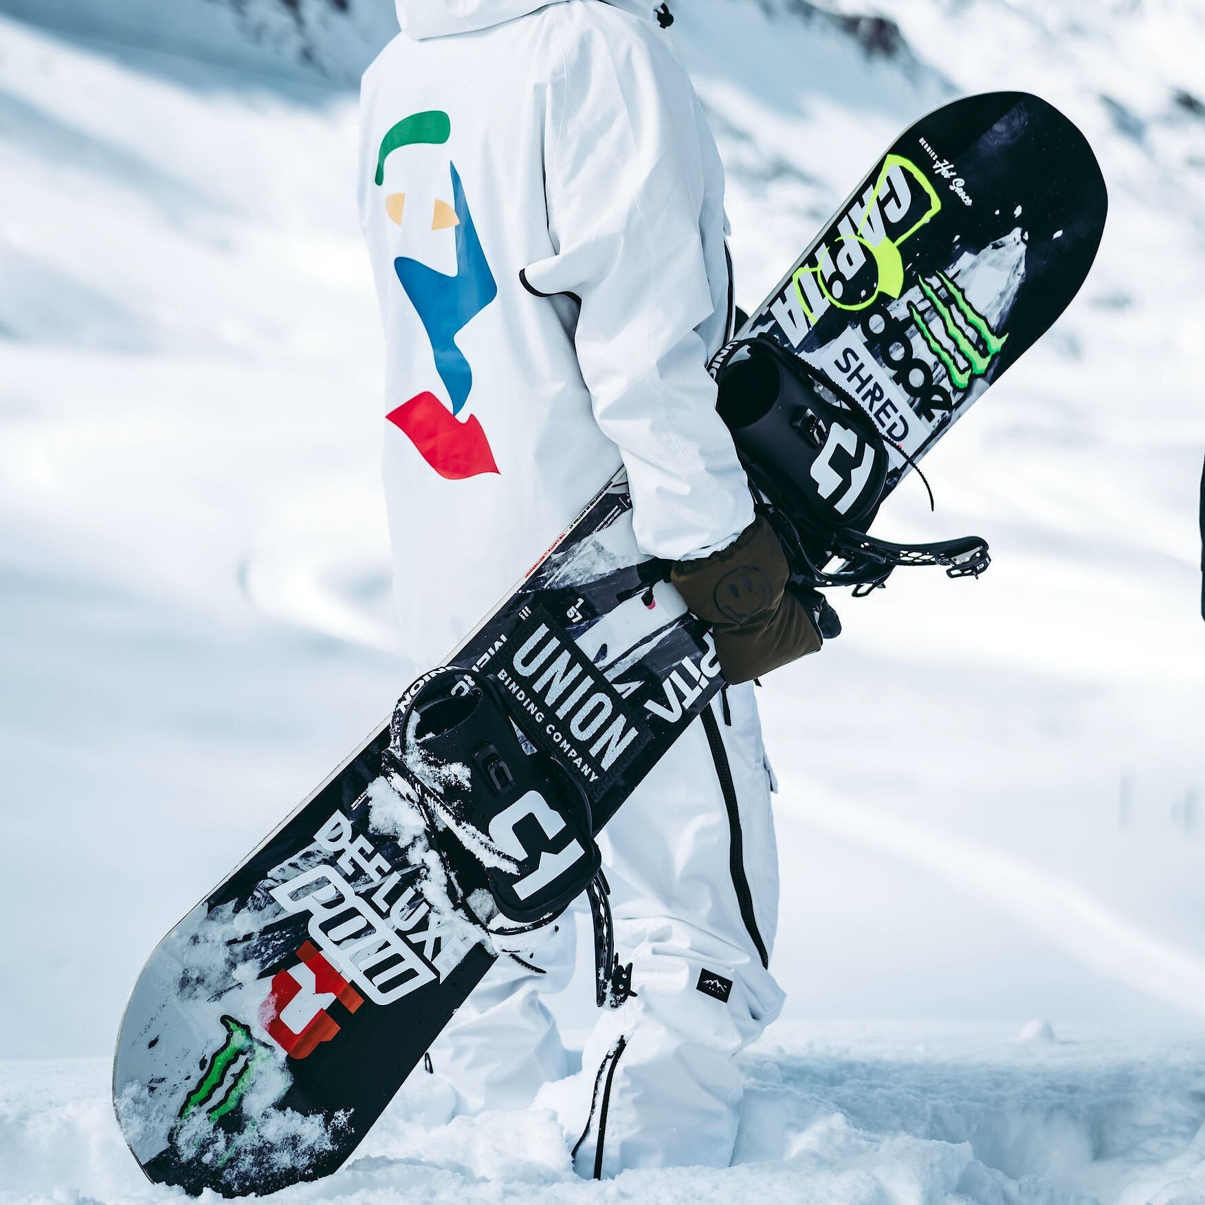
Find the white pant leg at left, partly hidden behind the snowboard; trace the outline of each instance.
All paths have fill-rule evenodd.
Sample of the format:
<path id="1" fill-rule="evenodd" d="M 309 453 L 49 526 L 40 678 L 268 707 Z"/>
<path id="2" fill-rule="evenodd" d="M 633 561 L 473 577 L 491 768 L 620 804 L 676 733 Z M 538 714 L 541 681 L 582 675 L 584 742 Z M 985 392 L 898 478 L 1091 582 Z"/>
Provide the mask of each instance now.
<path id="1" fill-rule="evenodd" d="M 530 952 L 539 975 L 499 958 L 431 1045 L 431 1066 L 455 1092 L 457 1113 L 525 1109 L 541 1086 L 569 1068 L 557 1022 L 541 995 L 574 972 L 572 913 Z"/>

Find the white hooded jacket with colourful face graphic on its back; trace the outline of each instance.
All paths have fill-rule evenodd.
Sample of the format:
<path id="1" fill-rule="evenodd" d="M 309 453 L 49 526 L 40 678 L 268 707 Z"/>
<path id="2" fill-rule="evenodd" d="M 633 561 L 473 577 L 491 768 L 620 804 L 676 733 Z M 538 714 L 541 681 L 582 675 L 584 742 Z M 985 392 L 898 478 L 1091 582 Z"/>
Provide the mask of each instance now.
<path id="1" fill-rule="evenodd" d="M 359 202 L 405 649 L 437 663 L 619 466 L 680 559 L 753 518 L 706 362 L 723 169 L 653 0 L 396 0 Z"/>

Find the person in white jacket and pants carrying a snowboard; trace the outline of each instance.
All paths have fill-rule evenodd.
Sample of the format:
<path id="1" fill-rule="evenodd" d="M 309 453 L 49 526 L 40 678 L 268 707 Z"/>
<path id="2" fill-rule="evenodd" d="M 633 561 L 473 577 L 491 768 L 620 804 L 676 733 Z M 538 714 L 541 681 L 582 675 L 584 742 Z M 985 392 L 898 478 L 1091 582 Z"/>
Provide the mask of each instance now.
<path id="1" fill-rule="evenodd" d="M 771 775 L 751 680 L 819 647 L 716 415 L 731 335 L 723 170 L 652 0 L 396 0 L 364 77 L 360 214 L 387 341 L 405 647 L 437 664 L 619 457 L 734 684 L 601 837 L 635 995 L 583 1054 L 583 1175 L 727 1165 L 733 1056 L 778 1013 Z M 433 1057 L 464 1112 L 568 1071 L 541 993 L 572 924 L 501 959 Z"/>

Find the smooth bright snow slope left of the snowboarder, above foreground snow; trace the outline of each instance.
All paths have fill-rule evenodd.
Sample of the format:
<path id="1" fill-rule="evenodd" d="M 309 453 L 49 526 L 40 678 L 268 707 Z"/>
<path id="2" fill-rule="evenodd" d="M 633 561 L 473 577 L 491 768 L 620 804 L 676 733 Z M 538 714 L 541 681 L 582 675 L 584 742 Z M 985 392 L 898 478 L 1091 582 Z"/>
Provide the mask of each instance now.
<path id="1" fill-rule="evenodd" d="M 407 681 L 380 322 L 349 94 L 0 18 L 0 1029 L 99 1053 Z"/>

